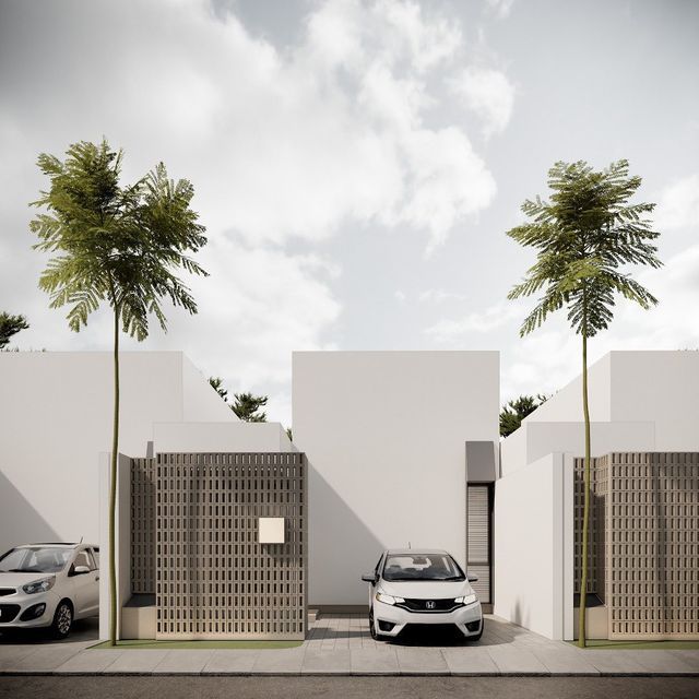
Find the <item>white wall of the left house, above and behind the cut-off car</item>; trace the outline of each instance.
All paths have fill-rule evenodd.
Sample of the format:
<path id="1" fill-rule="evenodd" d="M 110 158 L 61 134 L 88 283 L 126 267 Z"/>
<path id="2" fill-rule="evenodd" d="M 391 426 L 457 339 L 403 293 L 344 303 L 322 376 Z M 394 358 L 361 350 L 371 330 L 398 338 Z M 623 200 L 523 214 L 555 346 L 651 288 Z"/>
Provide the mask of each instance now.
<path id="1" fill-rule="evenodd" d="M 109 352 L 0 353 L 0 549 L 99 543 L 97 455 L 111 449 L 111 360 Z M 179 352 L 121 353 L 122 453 L 145 455 L 153 423 L 181 422 L 190 400 L 200 419 L 237 420 L 187 365 Z"/>

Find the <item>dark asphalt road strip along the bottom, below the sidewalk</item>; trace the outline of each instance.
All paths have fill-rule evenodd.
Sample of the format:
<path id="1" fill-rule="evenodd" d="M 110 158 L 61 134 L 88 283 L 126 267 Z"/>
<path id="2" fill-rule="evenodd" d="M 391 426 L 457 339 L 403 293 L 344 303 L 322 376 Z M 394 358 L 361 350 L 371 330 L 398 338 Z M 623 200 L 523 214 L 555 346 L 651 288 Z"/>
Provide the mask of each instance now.
<path id="1" fill-rule="evenodd" d="M 697 677 L 0 677 L 1 699 L 696 699 Z"/>

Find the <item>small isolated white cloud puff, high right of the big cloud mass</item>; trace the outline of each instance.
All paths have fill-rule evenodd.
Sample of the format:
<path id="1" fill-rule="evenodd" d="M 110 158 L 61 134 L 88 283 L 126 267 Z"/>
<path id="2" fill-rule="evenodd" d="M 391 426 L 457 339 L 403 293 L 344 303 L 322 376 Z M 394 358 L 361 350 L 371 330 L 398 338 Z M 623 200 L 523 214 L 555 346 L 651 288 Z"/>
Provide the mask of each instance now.
<path id="1" fill-rule="evenodd" d="M 514 106 L 514 86 L 505 73 L 470 66 L 449 86 L 481 119 L 485 138 L 505 130 Z"/>

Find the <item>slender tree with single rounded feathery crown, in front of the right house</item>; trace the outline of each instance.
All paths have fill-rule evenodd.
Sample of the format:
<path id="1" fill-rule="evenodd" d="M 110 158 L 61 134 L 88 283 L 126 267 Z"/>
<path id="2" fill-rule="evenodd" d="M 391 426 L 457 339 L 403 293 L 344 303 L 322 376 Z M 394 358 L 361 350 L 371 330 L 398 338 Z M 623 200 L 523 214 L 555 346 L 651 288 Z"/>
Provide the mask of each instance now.
<path id="1" fill-rule="evenodd" d="M 590 521 L 590 407 L 588 402 L 588 340 L 606 330 L 613 319 L 615 296 L 620 294 L 648 309 L 657 300 L 629 273 L 629 264 L 661 266 L 657 248 L 650 241 L 647 215 L 655 204 L 629 204 L 641 185 L 629 177 L 627 161 L 595 171 L 585 162 L 556 163 L 548 171 L 550 201 L 526 200 L 522 211 L 530 223 L 508 236 L 538 250 L 536 263 L 508 298 L 542 292 L 525 318 L 520 335 L 538 328 L 549 313 L 566 308 L 570 327 L 582 337 L 582 410 L 585 430 L 583 472 L 582 571 L 580 582 L 579 644 L 585 645 L 585 593 L 588 585 L 588 531 Z"/>

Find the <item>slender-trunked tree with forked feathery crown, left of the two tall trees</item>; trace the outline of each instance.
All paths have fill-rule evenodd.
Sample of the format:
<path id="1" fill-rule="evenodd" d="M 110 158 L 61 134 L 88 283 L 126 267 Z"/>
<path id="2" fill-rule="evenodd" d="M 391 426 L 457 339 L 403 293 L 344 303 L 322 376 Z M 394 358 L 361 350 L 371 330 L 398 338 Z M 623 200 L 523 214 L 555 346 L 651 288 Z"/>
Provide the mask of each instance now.
<path id="1" fill-rule="evenodd" d="M 161 163 L 134 185 L 121 187 L 122 152 L 100 144 L 72 144 L 61 162 L 42 154 L 38 166 L 50 188 L 33 202 L 46 208 L 29 224 L 39 242 L 34 247 L 52 257 L 39 287 L 50 307 L 70 306 L 68 324 L 78 332 L 106 301 L 114 316 L 114 425 L 109 491 L 109 638 L 116 644 L 117 599 L 115 510 L 119 450 L 119 335 L 145 340 L 153 313 L 167 330 L 162 300 L 168 298 L 190 313 L 197 304 L 176 276 L 181 268 L 206 273 L 188 253 L 206 244 L 204 227 L 190 209 L 194 193 L 187 180 L 167 178 Z"/>

